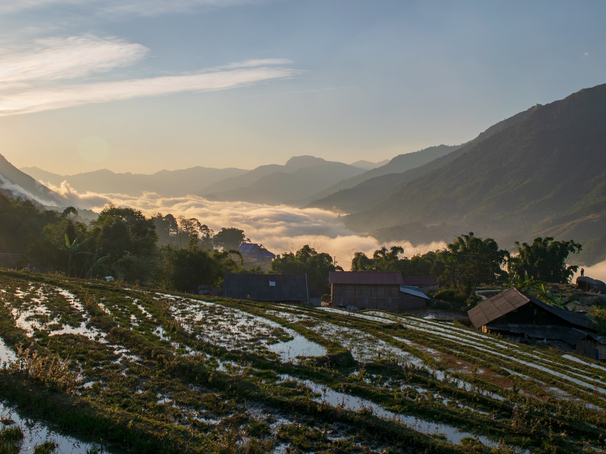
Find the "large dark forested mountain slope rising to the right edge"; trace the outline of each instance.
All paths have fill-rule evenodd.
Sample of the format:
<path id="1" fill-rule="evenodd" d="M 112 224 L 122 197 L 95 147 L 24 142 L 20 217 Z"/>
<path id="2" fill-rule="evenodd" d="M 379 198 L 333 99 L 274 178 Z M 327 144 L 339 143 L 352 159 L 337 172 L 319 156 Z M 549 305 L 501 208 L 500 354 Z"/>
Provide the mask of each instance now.
<path id="1" fill-rule="evenodd" d="M 606 84 L 540 106 L 449 165 L 345 222 L 359 231 L 419 222 L 481 232 L 508 246 L 536 234 L 606 245 Z"/>

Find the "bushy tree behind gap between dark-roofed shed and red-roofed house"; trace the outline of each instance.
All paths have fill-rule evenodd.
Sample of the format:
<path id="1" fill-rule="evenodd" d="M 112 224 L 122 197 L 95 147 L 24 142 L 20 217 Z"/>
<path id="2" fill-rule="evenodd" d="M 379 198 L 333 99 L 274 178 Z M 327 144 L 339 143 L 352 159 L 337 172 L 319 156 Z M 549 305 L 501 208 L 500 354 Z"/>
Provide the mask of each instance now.
<path id="1" fill-rule="evenodd" d="M 284 252 L 282 257 L 271 262 L 272 274 L 307 274 L 307 284 L 312 289 L 328 291 L 328 272 L 343 271 L 335 266 L 333 258 L 326 252 L 318 253 L 309 245 L 303 246 L 295 254 Z"/>

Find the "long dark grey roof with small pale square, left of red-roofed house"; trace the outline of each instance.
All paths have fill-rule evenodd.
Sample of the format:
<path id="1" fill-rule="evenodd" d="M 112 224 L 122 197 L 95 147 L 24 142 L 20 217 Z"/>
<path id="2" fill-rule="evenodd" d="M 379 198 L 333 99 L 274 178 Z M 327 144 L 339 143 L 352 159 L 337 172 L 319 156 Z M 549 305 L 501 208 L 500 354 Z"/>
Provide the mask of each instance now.
<path id="1" fill-rule="evenodd" d="M 275 285 L 270 285 L 270 281 Z M 231 274 L 225 297 L 253 301 L 309 301 L 305 274 Z"/>

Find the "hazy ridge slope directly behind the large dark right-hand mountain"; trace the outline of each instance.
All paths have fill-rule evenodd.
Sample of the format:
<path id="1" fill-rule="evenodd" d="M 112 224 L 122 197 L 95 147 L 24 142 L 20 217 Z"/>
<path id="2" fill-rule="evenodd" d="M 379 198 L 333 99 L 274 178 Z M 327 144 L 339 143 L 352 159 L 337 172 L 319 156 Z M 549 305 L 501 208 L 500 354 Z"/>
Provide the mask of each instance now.
<path id="1" fill-rule="evenodd" d="M 356 213 L 359 211 L 371 209 L 379 203 L 384 202 L 384 200 L 387 200 L 388 197 L 390 197 L 392 194 L 395 194 L 395 192 L 397 192 L 406 183 L 411 182 L 427 173 L 430 173 L 435 169 L 447 165 L 457 157 L 461 156 L 466 151 L 471 150 L 471 148 L 473 148 L 479 142 L 482 142 L 482 140 L 487 139 L 487 137 L 490 137 L 494 133 L 498 133 L 499 131 L 510 127 L 511 125 L 518 123 L 535 108 L 536 107 L 531 107 L 528 110 L 515 114 L 512 117 L 509 117 L 501 122 L 492 125 L 483 133 L 480 133 L 478 137 L 473 140 L 470 140 L 467 143 L 464 143 L 463 145 L 439 145 L 432 146 L 430 148 L 425 148 L 425 150 L 417 151 L 416 153 L 431 151 L 431 153 L 425 154 L 424 156 L 438 156 L 435 157 L 435 159 L 432 158 L 432 160 L 429 160 L 429 162 L 426 162 L 422 165 L 399 170 L 398 168 L 402 168 L 402 166 L 398 167 L 397 163 L 396 165 L 392 165 L 391 162 L 394 162 L 399 158 L 407 157 L 409 155 L 416 155 L 416 153 L 408 153 L 396 156 L 394 159 L 391 160 L 388 165 L 381 167 L 381 169 L 389 168 L 389 172 L 379 174 L 378 176 L 373 176 L 372 178 L 367 179 L 364 182 L 357 184 L 356 186 L 350 186 L 348 189 L 341 189 L 340 191 L 334 192 L 330 195 L 328 195 L 328 191 L 330 191 L 330 189 L 332 188 L 329 188 L 326 191 L 322 192 L 322 194 L 326 195 L 323 199 L 316 199 L 314 202 L 311 202 L 309 206 L 339 210 L 348 213 Z M 398 163 L 402 163 L 402 161 L 403 159 Z M 413 162 L 419 162 L 419 159 L 410 160 L 407 163 L 411 164 Z M 376 170 L 379 169 L 375 169 L 375 171 Z M 365 176 L 367 174 L 368 172 L 362 174 L 360 177 Z M 357 178 L 359 179 L 360 177 Z M 341 182 L 339 183 L 339 185 L 343 186 L 343 183 L 345 182 Z M 316 194 L 316 196 L 320 196 L 322 194 Z"/>

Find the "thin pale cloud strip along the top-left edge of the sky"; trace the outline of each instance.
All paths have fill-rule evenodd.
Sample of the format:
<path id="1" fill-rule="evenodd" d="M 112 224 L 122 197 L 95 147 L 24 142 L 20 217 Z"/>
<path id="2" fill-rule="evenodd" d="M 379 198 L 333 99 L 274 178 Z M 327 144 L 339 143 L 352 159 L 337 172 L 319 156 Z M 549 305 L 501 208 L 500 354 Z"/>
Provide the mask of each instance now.
<path id="1" fill-rule="evenodd" d="M 110 14 L 156 16 L 190 12 L 200 8 L 221 8 L 258 2 L 259 0 L 0 0 L 0 14 L 66 6 L 94 9 Z"/>

